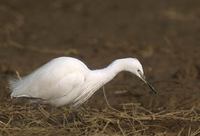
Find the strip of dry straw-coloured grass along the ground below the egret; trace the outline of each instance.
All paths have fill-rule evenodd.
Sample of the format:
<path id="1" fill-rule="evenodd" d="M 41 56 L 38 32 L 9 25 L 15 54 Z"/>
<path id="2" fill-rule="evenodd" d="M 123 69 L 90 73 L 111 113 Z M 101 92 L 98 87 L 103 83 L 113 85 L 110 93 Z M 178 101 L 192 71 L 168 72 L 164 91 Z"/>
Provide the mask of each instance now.
<path id="1" fill-rule="evenodd" d="M 195 108 L 151 112 L 133 103 L 121 107 L 72 111 L 5 104 L 0 106 L 0 135 L 200 135 L 200 112 Z"/>

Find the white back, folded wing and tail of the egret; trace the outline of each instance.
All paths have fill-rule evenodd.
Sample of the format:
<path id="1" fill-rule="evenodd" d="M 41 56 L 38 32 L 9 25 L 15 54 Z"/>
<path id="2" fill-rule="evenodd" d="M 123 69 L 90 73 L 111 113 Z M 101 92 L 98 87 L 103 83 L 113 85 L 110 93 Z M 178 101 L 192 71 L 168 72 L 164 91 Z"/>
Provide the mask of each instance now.
<path id="1" fill-rule="evenodd" d="M 63 91 L 69 91 L 73 85 L 81 83 L 88 70 L 83 62 L 75 58 L 59 57 L 53 59 L 21 80 L 11 80 L 11 97 L 50 99 L 62 96 L 63 93 L 66 93 Z M 63 80 L 65 86 L 60 84 Z"/>

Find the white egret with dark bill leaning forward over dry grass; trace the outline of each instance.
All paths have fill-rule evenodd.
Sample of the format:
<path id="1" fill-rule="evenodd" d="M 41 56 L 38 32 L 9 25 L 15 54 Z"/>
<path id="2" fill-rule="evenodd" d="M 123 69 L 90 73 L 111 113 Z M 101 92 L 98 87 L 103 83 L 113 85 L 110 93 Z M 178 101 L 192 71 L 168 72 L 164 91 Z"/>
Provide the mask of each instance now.
<path id="1" fill-rule="evenodd" d="M 106 68 L 90 70 L 76 58 L 59 57 L 21 79 L 10 80 L 11 98 L 34 98 L 54 106 L 76 107 L 121 71 L 135 74 L 156 93 L 136 58 L 117 59 Z"/>

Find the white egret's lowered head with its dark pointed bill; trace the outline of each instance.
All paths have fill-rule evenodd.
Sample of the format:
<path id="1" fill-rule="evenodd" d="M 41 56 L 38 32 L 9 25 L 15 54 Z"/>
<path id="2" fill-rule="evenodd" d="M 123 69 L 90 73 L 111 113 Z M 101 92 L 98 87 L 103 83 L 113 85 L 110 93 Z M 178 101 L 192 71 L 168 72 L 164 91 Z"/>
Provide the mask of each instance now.
<path id="1" fill-rule="evenodd" d="M 146 80 L 145 75 L 144 75 L 144 71 L 142 68 L 142 64 L 139 62 L 138 59 L 136 58 L 128 58 L 126 59 L 127 62 L 126 63 L 126 70 L 135 74 L 136 76 L 138 76 L 144 83 L 146 83 L 150 89 L 156 93 L 155 89 L 153 88 L 153 86 Z"/>

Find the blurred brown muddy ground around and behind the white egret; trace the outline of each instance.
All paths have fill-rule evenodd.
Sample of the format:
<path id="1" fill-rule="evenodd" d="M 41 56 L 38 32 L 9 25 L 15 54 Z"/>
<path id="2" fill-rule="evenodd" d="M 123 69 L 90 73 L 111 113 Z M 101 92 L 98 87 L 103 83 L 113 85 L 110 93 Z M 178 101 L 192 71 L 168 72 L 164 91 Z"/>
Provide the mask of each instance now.
<path id="1" fill-rule="evenodd" d="M 136 103 L 154 113 L 193 109 L 198 116 L 194 122 L 173 119 L 156 122 L 163 129 L 155 127 L 145 130 L 149 133 L 140 131 L 137 134 L 189 135 L 190 132 L 197 131 L 200 129 L 199 7 L 200 1 L 188 0 L 1 0 L 2 110 L 18 110 L 11 104 L 7 84 L 9 77 L 16 77 L 16 71 L 21 76 L 26 75 L 59 56 L 79 58 L 91 69 L 105 67 L 117 58 L 137 57 L 158 94 L 149 93 L 148 87 L 138 78 L 123 72 L 105 86 L 112 107 L 120 109 L 122 104 Z M 9 109 L 10 106 L 12 109 Z M 89 107 L 87 112 L 107 108 L 102 90 L 96 92 L 84 106 Z M 9 124 L 8 113 L 4 112 L 0 115 L 6 119 L 0 117 L 0 122 L 8 123 L 11 129 L 0 125 L 0 134 L 32 134 L 24 132 L 19 123 L 16 125 L 15 120 Z M 37 113 L 38 110 L 34 112 Z M 17 126 L 19 129 L 12 129 Z M 47 131 L 45 134 L 55 135 L 59 128 L 56 125 L 53 127 L 54 133 Z M 45 131 L 45 127 L 41 129 Z M 126 132 L 126 127 L 123 129 Z M 7 133 L 8 130 L 11 133 Z M 117 130 L 105 131 L 101 135 L 129 135 Z M 73 133 L 64 129 L 62 134 L 58 131 L 57 135 Z M 37 135 L 39 134 L 40 131 Z M 94 134 L 98 134 L 98 131 L 87 133 Z"/>

